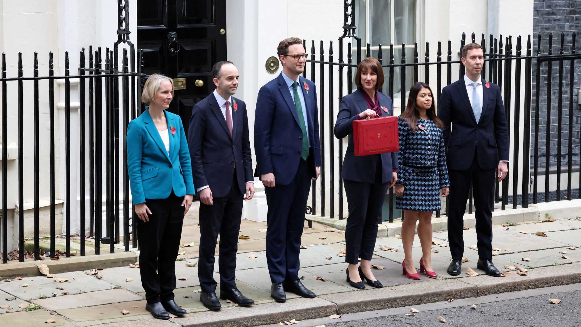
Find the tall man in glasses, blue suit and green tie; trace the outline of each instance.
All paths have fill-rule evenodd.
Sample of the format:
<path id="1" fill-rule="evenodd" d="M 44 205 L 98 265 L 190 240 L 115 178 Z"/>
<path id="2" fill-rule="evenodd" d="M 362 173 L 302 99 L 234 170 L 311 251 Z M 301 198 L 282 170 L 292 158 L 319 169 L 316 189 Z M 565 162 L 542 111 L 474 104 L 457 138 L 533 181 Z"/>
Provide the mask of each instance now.
<path id="1" fill-rule="evenodd" d="M 282 73 L 260 88 L 254 120 L 256 175 L 268 204 L 266 257 L 271 296 L 286 301 L 285 290 L 315 294 L 299 278 L 300 237 L 311 180 L 320 174 L 321 150 L 317 91 L 300 74 L 307 54 L 300 38 L 278 44 Z"/>

